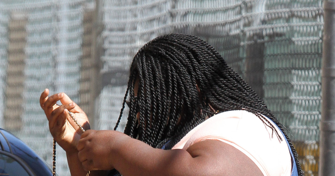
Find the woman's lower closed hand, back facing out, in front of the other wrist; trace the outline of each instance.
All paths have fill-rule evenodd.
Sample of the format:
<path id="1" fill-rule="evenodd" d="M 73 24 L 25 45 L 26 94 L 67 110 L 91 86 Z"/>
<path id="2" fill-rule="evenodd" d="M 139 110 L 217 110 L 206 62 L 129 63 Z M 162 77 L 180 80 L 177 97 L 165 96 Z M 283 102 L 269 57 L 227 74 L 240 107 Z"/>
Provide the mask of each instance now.
<path id="1" fill-rule="evenodd" d="M 86 171 L 111 170 L 112 141 L 116 131 L 86 130 L 77 145 L 79 161 Z"/>

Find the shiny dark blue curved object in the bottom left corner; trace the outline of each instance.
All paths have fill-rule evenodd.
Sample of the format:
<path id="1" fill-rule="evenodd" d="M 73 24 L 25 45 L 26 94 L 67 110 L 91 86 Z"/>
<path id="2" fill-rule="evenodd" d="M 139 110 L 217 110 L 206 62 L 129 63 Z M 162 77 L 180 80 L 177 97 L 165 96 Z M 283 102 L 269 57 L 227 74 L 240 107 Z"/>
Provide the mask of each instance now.
<path id="1" fill-rule="evenodd" d="M 26 144 L 0 129 L 0 175 L 52 176 L 51 169 Z"/>

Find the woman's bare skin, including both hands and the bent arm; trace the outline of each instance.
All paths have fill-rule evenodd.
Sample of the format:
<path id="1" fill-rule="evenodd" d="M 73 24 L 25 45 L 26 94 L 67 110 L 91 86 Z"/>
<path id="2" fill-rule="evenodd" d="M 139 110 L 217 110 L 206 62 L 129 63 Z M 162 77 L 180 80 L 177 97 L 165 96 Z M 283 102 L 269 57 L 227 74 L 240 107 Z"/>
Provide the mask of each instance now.
<path id="1" fill-rule="evenodd" d="M 137 96 L 137 87 L 134 89 Z M 56 105 L 59 101 L 62 105 Z M 46 89 L 40 104 L 49 129 L 66 151 L 72 176 L 107 175 L 116 168 L 124 176 L 133 175 L 262 175 L 245 154 L 216 140 L 204 140 L 187 150 L 162 150 L 113 130 L 89 130 L 86 114 L 65 93 L 49 96 Z M 86 130 L 82 133 L 68 111 Z M 137 114 L 139 116 L 139 114 Z M 100 170 L 100 171 L 98 171 Z"/>

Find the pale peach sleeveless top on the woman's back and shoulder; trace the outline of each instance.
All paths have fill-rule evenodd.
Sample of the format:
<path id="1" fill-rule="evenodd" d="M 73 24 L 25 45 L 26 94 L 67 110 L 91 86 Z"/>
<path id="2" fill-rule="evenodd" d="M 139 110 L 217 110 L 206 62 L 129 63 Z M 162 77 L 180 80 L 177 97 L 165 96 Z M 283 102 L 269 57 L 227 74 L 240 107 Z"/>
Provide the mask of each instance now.
<path id="1" fill-rule="evenodd" d="M 265 117 L 265 116 L 264 116 Z M 265 117 L 267 118 L 267 117 Z M 172 149 L 187 149 L 192 144 L 211 139 L 227 143 L 247 155 L 266 176 L 291 175 L 291 155 L 283 139 L 256 115 L 244 111 L 226 111 L 205 120 L 184 136 Z"/>

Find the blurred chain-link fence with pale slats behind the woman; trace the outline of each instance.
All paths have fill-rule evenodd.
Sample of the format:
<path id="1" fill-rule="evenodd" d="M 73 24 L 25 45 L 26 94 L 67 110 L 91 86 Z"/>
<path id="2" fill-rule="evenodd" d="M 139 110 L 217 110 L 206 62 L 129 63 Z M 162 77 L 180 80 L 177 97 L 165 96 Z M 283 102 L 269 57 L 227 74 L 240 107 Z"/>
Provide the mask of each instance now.
<path id="1" fill-rule="evenodd" d="M 93 128 L 113 129 L 137 50 L 161 34 L 187 33 L 253 87 L 287 128 L 306 175 L 317 175 L 322 32 L 321 0 L 2 0 L 0 125 L 51 165 L 38 102 L 45 88 L 66 92 Z M 57 172 L 69 175 L 59 151 Z"/>

